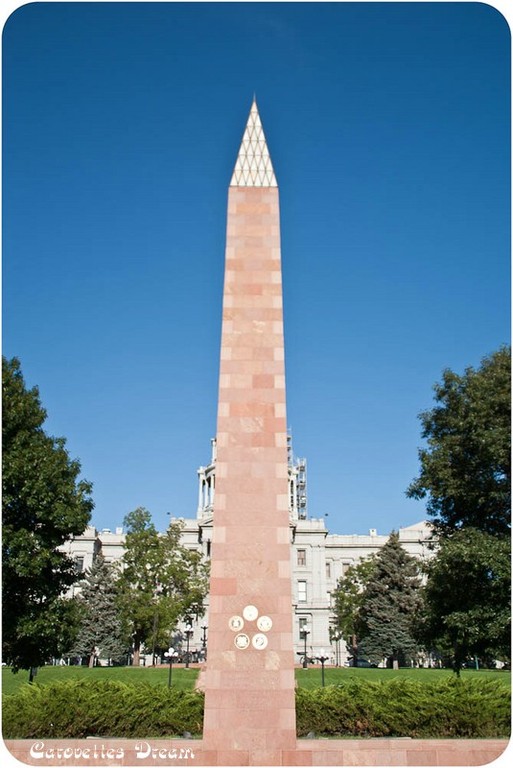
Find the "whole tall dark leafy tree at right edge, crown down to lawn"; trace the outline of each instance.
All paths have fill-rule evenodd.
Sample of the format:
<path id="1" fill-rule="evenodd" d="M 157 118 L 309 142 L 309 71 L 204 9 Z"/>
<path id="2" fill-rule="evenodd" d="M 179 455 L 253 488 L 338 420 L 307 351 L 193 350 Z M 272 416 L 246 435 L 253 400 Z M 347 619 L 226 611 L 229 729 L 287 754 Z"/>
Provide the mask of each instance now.
<path id="1" fill-rule="evenodd" d="M 427 497 L 437 534 L 428 568 L 424 642 L 452 657 L 510 652 L 511 350 L 462 376 L 444 371 L 420 414 L 427 447 L 407 495 Z"/>

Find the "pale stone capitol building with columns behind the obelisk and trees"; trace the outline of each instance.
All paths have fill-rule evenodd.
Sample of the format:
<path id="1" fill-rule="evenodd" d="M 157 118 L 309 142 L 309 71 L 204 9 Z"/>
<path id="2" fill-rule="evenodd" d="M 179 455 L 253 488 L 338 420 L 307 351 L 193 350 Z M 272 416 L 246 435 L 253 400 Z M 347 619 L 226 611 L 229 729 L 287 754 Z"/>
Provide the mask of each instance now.
<path id="1" fill-rule="evenodd" d="M 172 523 L 182 527 L 182 543 L 189 549 L 210 558 L 212 525 L 214 518 L 216 441 L 212 440 L 212 454 L 208 466 L 198 469 L 198 508 L 194 518 L 171 518 Z M 292 454 L 289 439 L 289 519 L 290 558 L 292 572 L 292 610 L 294 616 L 294 651 L 299 663 L 305 650 L 311 658 L 327 656 L 328 663 L 344 665 L 349 659 L 344 638 L 334 631 L 334 592 L 347 569 L 358 561 L 377 553 L 388 541 L 389 533 L 378 533 L 371 528 L 367 534 L 330 533 L 325 518 L 314 518 L 308 514 L 307 466 L 306 459 Z M 399 528 L 399 541 L 413 557 L 420 560 L 431 556 L 429 523 L 420 521 L 414 525 Z M 107 562 L 120 560 L 124 552 L 125 533 L 122 527 L 114 530 L 97 530 L 88 526 L 81 536 L 71 539 L 61 548 L 83 572 L 91 567 L 96 555 L 101 552 Z M 72 588 L 80 590 L 77 585 Z M 208 638 L 208 596 L 205 611 L 192 622 L 193 634 L 190 651 L 194 657 L 205 646 Z M 206 627 L 207 629 L 203 629 Z M 185 626 L 178 627 L 178 633 Z M 306 630 L 306 635 L 305 635 Z M 208 651 L 208 639 L 207 639 Z M 144 658 L 144 657 L 143 657 Z M 148 663 L 151 657 L 148 656 Z"/>

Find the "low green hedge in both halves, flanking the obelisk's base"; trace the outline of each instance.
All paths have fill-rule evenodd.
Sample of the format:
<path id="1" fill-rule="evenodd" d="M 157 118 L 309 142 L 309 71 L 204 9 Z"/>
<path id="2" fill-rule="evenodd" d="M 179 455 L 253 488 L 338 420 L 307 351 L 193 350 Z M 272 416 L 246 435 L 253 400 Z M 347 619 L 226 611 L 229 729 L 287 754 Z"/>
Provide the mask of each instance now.
<path id="1" fill-rule="evenodd" d="M 510 733 L 510 692 L 493 680 L 408 678 L 296 692 L 297 734 L 492 738 Z M 116 680 L 24 685 L 3 698 L 4 738 L 200 736 L 203 695 Z"/>

